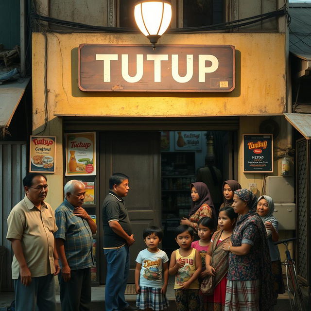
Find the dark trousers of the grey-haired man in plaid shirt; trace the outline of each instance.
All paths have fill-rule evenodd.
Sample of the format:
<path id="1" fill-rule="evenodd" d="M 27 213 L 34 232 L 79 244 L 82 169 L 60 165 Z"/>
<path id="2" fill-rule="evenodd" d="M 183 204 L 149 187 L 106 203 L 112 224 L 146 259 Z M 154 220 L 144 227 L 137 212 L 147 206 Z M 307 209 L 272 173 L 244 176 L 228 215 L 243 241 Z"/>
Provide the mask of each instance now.
<path id="1" fill-rule="evenodd" d="M 91 304 L 91 268 L 71 270 L 65 282 L 58 275 L 62 311 L 89 311 Z"/>

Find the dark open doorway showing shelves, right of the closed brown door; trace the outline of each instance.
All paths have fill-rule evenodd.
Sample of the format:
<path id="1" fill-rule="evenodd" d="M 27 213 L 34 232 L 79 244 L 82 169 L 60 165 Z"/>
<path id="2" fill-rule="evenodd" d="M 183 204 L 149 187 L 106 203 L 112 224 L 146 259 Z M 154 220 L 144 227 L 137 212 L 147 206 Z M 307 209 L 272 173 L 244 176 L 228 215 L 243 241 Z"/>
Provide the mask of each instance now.
<path id="1" fill-rule="evenodd" d="M 190 184 L 207 184 L 216 211 L 223 203 L 222 184 L 233 178 L 232 132 L 161 132 L 161 219 L 163 250 L 170 256 L 176 248 L 174 229 L 189 215 Z"/>

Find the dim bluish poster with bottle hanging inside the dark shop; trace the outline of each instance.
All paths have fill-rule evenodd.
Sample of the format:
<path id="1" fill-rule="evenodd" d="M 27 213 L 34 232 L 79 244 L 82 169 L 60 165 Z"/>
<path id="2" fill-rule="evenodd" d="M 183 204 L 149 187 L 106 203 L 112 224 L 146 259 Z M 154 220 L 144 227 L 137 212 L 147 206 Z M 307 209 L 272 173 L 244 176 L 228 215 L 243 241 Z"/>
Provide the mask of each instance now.
<path id="1" fill-rule="evenodd" d="M 202 150 L 202 133 L 175 132 L 175 150 Z"/>

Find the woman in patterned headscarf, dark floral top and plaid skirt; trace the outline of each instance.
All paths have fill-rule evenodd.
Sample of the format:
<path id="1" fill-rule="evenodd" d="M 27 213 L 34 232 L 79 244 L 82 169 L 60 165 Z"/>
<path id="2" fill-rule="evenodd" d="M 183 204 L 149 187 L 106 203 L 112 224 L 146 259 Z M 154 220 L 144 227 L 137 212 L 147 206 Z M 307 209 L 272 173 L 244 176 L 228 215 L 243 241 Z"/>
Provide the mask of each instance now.
<path id="1" fill-rule="evenodd" d="M 225 311 L 271 311 L 271 259 L 266 229 L 256 213 L 257 198 L 251 190 L 236 190 L 232 207 L 241 217 L 231 241 L 223 244 L 229 252 Z"/>

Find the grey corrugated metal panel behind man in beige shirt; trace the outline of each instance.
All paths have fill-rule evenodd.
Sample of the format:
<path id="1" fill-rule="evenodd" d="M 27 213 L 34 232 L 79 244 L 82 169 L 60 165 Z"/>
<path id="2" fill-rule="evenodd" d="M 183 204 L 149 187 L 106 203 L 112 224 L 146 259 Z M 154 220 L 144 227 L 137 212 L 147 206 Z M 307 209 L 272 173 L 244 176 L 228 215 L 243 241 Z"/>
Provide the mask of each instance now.
<path id="1" fill-rule="evenodd" d="M 0 142 L 0 245 L 4 246 L 4 256 L 0 265 L 0 290 L 12 291 L 11 262 L 13 251 L 6 240 L 7 218 L 23 197 L 22 178 L 26 175 L 26 143 Z M 1 260 L 1 259 L 0 259 Z"/>

